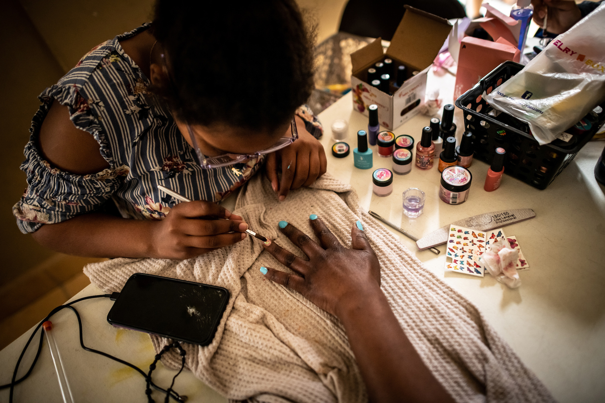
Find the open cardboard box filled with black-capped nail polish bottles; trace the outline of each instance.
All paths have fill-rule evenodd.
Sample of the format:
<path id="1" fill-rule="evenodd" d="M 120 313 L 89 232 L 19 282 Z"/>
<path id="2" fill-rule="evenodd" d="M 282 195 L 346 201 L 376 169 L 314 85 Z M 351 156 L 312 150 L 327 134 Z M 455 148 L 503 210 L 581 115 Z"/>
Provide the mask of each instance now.
<path id="1" fill-rule="evenodd" d="M 369 116 L 368 106 L 378 105 L 378 121 L 390 130 L 416 115 L 425 102 L 428 69 L 451 28 L 446 19 L 405 5 L 404 18 L 386 52 L 378 38 L 351 54 L 353 109 Z M 408 71 L 408 79 L 392 95 L 367 83 L 368 68 L 385 57 L 393 60 L 394 71 L 400 65 Z"/>

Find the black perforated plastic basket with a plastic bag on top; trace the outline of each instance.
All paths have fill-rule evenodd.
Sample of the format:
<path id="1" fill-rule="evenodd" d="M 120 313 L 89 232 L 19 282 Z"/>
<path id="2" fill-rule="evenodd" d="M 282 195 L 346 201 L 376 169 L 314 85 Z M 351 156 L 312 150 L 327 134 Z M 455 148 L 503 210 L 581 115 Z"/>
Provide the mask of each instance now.
<path id="1" fill-rule="evenodd" d="M 495 149 L 503 147 L 506 150 L 506 174 L 538 189 L 546 189 L 603 125 L 605 103 L 600 105 L 598 114 L 593 111 L 590 116 L 587 115 L 590 120 L 596 120 L 591 123 L 589 130 L 574 134 L 569 143 L 555 140 L 540 146 L 531 135 L 528 124 L 503 112 L 497 116 L 490 115 L 494 109 L 482 97 L 483 91 L 489 94 L 523 67 L 515 62 L 502 63 L 473 88 L 460 95 L 456 106 L 464 113 L 465 130 L 473 133 L 474 158 L 491 164 Z M 572 128 L 566 132 L 571 130 Z"/>

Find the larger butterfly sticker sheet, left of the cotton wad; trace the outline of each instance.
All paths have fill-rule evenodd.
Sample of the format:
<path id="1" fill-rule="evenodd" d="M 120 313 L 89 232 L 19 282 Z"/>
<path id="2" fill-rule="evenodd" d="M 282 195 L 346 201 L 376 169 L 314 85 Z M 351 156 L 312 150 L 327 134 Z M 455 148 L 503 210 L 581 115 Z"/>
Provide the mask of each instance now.
<path id="1" fill-rule="evenodd" d="M 451 225 L 446 242 L 446 255 L 451 257 L 452 262 L 446 262 L 445 269 L 483 277 L 479 259 L 485 251 L 485 245 L 485 232 Z"/>

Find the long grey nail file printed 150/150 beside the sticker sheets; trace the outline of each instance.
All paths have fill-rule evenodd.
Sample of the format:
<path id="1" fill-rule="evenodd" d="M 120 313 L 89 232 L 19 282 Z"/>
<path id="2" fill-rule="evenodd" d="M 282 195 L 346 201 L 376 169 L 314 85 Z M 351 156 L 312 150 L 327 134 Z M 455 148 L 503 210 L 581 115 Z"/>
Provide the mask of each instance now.
<path id="1" fill-rule="evenodd" d="M 445 225 L 445 227 L 434 230 L 416 241 L 419 250 L 432 248 L 448 241 L 450 225 L 471 228 L 471 230 L 489 231 L 495 228 L 505 227 L 509 224 L 522 222 L 535 217 L 535 211 L 531 208 L 517 208 L 515 210 L 494 211 L 492 213 L 479 214 Z"/>

